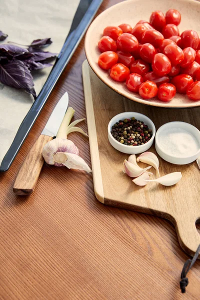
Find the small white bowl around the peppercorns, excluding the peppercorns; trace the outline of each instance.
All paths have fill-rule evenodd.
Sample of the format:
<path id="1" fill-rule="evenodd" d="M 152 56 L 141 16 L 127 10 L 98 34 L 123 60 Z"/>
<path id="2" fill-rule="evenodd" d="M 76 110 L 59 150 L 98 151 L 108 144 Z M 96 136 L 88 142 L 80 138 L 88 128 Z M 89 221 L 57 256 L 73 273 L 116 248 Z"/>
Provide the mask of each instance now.
<path id="1" fill-rule="evenodd" d="M 151 139 L 143 145 L 139 145 L 139 146 L 123 145 L 122 143 L 120 143 L 119 141 L 114 139 L 114 137 L 110 133 L 111 127 L 116 122 L 118 122 L 121 119 L 131 118 L 133 116 L 135 117 L 135 119 L 144 122 L 144 124 L 147 125 L 149 129 L 152 130 Z M 149 117 L 147 117 L 144 114 L 141 114 L 139 112 L 133 112 L 133 111 L 121 112 L 121 113 L 115 115 L 113 118 L 111 118 L 111 120 L 109 121 L 108 126 L 107 126 L 107 131 L 108 131 L 108 140 L 111 143 L 111 145 L 116 150 L 123 152 L 123 153 L 127 153 L 127 154 L 138 154 L 138 153 L 142 153 L 142 152 L 146 151 L 152 145 L 154 137 L 155 137 L 155 125 L 153 124 L 151 119 L 149 119 Z"/>

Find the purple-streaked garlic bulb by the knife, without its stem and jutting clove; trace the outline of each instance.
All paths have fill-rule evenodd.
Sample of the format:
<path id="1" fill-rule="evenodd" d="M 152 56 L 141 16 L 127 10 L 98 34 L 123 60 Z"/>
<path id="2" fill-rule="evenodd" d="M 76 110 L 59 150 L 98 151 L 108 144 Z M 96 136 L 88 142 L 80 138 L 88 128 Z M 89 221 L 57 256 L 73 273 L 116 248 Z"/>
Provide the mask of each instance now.
<path id="1" fill-rule="evenodd" d="M 66 138 L 54 138 L 48 141 L 42 150 L 42 155 L 46 163 L 56 166 L 63 166 L 66 160 L 65 152 L 78 155 L 79 151 L 76 145 Z"/>

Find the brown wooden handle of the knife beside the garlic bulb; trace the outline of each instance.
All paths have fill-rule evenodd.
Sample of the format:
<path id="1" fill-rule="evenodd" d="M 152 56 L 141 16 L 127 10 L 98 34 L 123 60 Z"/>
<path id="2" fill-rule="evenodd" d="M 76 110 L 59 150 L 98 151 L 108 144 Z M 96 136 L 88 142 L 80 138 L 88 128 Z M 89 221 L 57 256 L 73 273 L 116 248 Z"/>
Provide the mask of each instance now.
<path id="1" fill-rule="evenodd" d="M 33 191 L 44 163 L 43 146 L 51 139 L 51 136 L 40 134 L 33 144 L 14 182 L 13 192 L 15 194 L 29 195 Z"/>

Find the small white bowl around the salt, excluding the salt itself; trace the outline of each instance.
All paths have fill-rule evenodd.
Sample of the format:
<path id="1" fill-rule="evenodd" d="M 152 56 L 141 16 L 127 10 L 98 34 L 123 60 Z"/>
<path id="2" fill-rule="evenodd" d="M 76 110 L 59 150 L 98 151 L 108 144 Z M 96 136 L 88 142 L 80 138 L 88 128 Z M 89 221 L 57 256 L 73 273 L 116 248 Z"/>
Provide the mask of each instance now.
<path id="1" fill-rule="evenodd" d="M 163 146 L 161 146 L 161 143 L 160 143 L 160 137 L 163 136 L 163 134 L 165 134 L 164 133 L 165 130 L 170 130 L 170 129 L 172 130 L 174 128 L 183 129 L 183 130 L 187 131 L 189 134 L 193 135 L 193 137 L 197 141 L 198 147 L 199 147 L 195 153 L 192 153 L 192 155 L 188 153 L 188 155 L 186 155 L 186 156 L 182 156 L 181 154 L 173 155 L 173 154 L 169 153 L 170 151 L 167 151 L 166 148 L 163 149 Z M 159 129 L 156 132 L 155 149 L 156 149 L 157 153 L 159 154 L 159 156 L 168 162 L 171 162 L 173 164 L 190 163 L 190 162 L 194 161 L 198 156 L 200 156 L 200 131 L 193 125 L 186 123 L 186 122 L 175 121 L 175 122 L 166 123 L 166 124 L 162 125 L 161 127 L 159 127 Z"/>

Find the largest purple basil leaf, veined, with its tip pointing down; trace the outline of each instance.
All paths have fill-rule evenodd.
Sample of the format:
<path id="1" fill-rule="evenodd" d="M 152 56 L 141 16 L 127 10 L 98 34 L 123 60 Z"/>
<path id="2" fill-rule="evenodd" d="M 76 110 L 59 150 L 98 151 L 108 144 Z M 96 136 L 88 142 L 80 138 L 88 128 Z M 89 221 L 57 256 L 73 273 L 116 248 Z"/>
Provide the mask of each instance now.
<path id="1" fill-rule="evenodd" d="M 20 60 L 12 60 L 6 64 L 0 64 L 0 81 L 16 88 L 23 88 L 36 98 L 32 75 L 27 66 Z"/>

